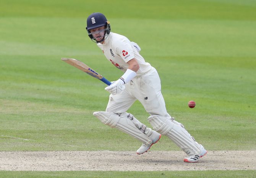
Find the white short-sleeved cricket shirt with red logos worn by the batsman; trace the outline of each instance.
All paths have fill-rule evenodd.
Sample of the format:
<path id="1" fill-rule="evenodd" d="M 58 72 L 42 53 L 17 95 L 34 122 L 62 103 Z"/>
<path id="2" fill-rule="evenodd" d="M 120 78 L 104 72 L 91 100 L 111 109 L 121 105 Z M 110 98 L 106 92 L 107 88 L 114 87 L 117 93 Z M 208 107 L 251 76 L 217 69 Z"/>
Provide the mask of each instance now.
<path id="1" fill-rule="evenodd" d="M 110 32 L 104 42 L 104 44 L 97 43 L 98 47 L 103 51 L 106 58 L 123 72 L 128 69 L 127 62 L 133 58 L 136 58 L 139 63 L 139 70 L 136 72 L 137 76 L 151 69 L 151 65 L 145 62 L 145 59 L 125 36 Z"/>

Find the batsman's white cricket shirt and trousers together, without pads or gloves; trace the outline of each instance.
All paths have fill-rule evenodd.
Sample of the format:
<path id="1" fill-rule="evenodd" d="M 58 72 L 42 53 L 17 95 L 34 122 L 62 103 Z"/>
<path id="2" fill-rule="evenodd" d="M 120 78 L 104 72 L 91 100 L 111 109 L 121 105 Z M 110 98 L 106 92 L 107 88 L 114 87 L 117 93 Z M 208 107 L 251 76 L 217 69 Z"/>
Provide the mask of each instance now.
<path id="1" fill-rule="evenodd" d="M 125 84 L 125 90 L 117 95 L 109 96 L 106 112 L 124 113 L 138 99 L 150 115 L 171 118 L 166 111 L 160 78 L 156 69 L 145 62 L 138 49 L 128 38 L 110 32 L 104 44 L 97 43 L 97 45 L 104 52 L 106 58 L 123 72 L 128 69 L 127 62 L 134 57 L 139 63 L 137 76 Z"/>

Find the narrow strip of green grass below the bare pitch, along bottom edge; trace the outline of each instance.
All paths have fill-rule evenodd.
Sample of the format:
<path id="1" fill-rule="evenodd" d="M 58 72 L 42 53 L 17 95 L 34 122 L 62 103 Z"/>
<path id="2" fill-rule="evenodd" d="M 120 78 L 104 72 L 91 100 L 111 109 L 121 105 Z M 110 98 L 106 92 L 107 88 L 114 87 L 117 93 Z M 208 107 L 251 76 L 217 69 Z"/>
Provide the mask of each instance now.
<path id="1" fill-rule="evenodd" d="M 240 171 L 0 171 L 0 177 L 254 177 L 253 170 Z"/>

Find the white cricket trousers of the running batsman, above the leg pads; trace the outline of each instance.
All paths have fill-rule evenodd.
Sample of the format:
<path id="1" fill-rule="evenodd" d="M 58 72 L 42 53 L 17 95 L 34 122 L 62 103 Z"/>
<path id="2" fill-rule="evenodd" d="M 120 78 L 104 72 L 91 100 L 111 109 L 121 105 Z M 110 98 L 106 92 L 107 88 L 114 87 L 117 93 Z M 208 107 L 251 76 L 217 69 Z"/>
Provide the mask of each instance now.
<path id="1" fill-rule="evenodd" d="M 110 94 L 106 112 L 126 112 L 136 101 L 144 106 L 150 115 L 161 115 L 171 118 L 167 113 L 164 98 L 161 93 L 161 82 L 154 67 L 145 74 L 134 77 L 125 84 L 125 90 L 117 95 Z"/>

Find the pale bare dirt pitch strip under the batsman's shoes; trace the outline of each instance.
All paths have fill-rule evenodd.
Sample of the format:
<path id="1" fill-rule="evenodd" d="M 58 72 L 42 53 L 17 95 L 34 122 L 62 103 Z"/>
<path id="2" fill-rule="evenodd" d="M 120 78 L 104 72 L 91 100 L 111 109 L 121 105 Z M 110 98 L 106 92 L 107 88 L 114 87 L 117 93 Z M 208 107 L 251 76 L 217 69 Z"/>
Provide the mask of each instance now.
<path id="1" fill-rule="evenodd" d="M 164 171 L 256 170 L 256 151 L 209 151 L 196 163 L 185 163 L 182 151 L 50 151 L 0 152 L 0 170 L 10 171 Z"/>

